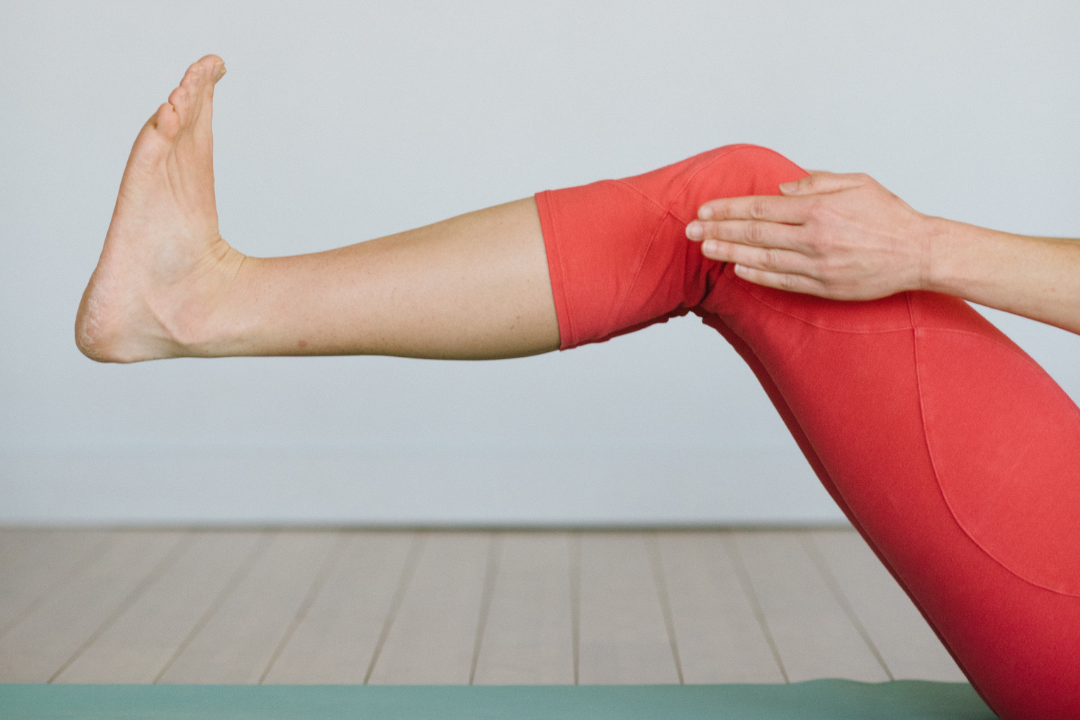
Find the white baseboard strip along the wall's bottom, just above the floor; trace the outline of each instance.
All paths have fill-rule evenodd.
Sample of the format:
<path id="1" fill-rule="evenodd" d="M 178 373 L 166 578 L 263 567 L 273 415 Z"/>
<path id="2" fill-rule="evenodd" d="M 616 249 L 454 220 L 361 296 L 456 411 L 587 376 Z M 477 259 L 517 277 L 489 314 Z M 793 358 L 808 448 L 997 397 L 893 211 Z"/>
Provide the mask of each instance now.
<path id="1" fill-rule="evenodd" d="M 0 451 L 0 522 L 826 525 L 788 449 Z"/>

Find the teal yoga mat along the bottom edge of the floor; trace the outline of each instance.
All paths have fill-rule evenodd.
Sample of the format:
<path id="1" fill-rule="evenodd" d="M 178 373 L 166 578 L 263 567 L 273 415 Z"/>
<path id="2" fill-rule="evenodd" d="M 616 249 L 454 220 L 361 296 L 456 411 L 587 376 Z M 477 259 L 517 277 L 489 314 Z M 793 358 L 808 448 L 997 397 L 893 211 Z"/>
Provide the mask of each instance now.
<path id="1" fill-rule="evenodd" d="M 4 720 L 994 720 L 971 685 L 0 684 Z"/>

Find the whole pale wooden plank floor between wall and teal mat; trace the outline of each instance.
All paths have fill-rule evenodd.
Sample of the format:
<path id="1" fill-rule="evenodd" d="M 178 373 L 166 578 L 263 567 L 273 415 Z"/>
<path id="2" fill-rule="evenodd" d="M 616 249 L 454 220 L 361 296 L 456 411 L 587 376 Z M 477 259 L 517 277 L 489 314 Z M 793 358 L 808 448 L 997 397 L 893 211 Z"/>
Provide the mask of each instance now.
<path id="1" fill-rule="evenodd" d="M 851 531 L 0 530 L 0 681 L 962 681 Z"/>

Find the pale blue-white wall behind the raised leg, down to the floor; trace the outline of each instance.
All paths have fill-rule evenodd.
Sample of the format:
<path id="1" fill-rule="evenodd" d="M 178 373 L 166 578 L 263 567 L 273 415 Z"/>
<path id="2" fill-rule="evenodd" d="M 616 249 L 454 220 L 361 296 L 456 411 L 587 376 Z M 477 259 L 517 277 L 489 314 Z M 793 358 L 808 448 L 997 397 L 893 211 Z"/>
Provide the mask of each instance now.
<path id="1" fill-rule="evenodd" d="M 523 361 L 102 366 L 79 296 L 204 53 L 222 234 L 315 250 L 729 142 L 1080 235 L 1080 4 L 4 2 L 0 521 L 839 518 L 697 321 Z M 996 321 L 1080 398 L 1080 338 Z"/>

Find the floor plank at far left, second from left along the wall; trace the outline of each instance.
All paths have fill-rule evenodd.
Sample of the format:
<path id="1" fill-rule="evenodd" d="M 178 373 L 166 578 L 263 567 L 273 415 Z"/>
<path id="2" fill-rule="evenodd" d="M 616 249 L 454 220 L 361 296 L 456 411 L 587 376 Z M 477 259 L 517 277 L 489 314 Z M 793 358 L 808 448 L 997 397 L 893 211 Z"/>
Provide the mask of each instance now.
<path id="1" fill-rule="evenodd" d="M 0 570 L 0 639 L 114 539 L 106 532 L 51 532 L 13 558 Z"/>

